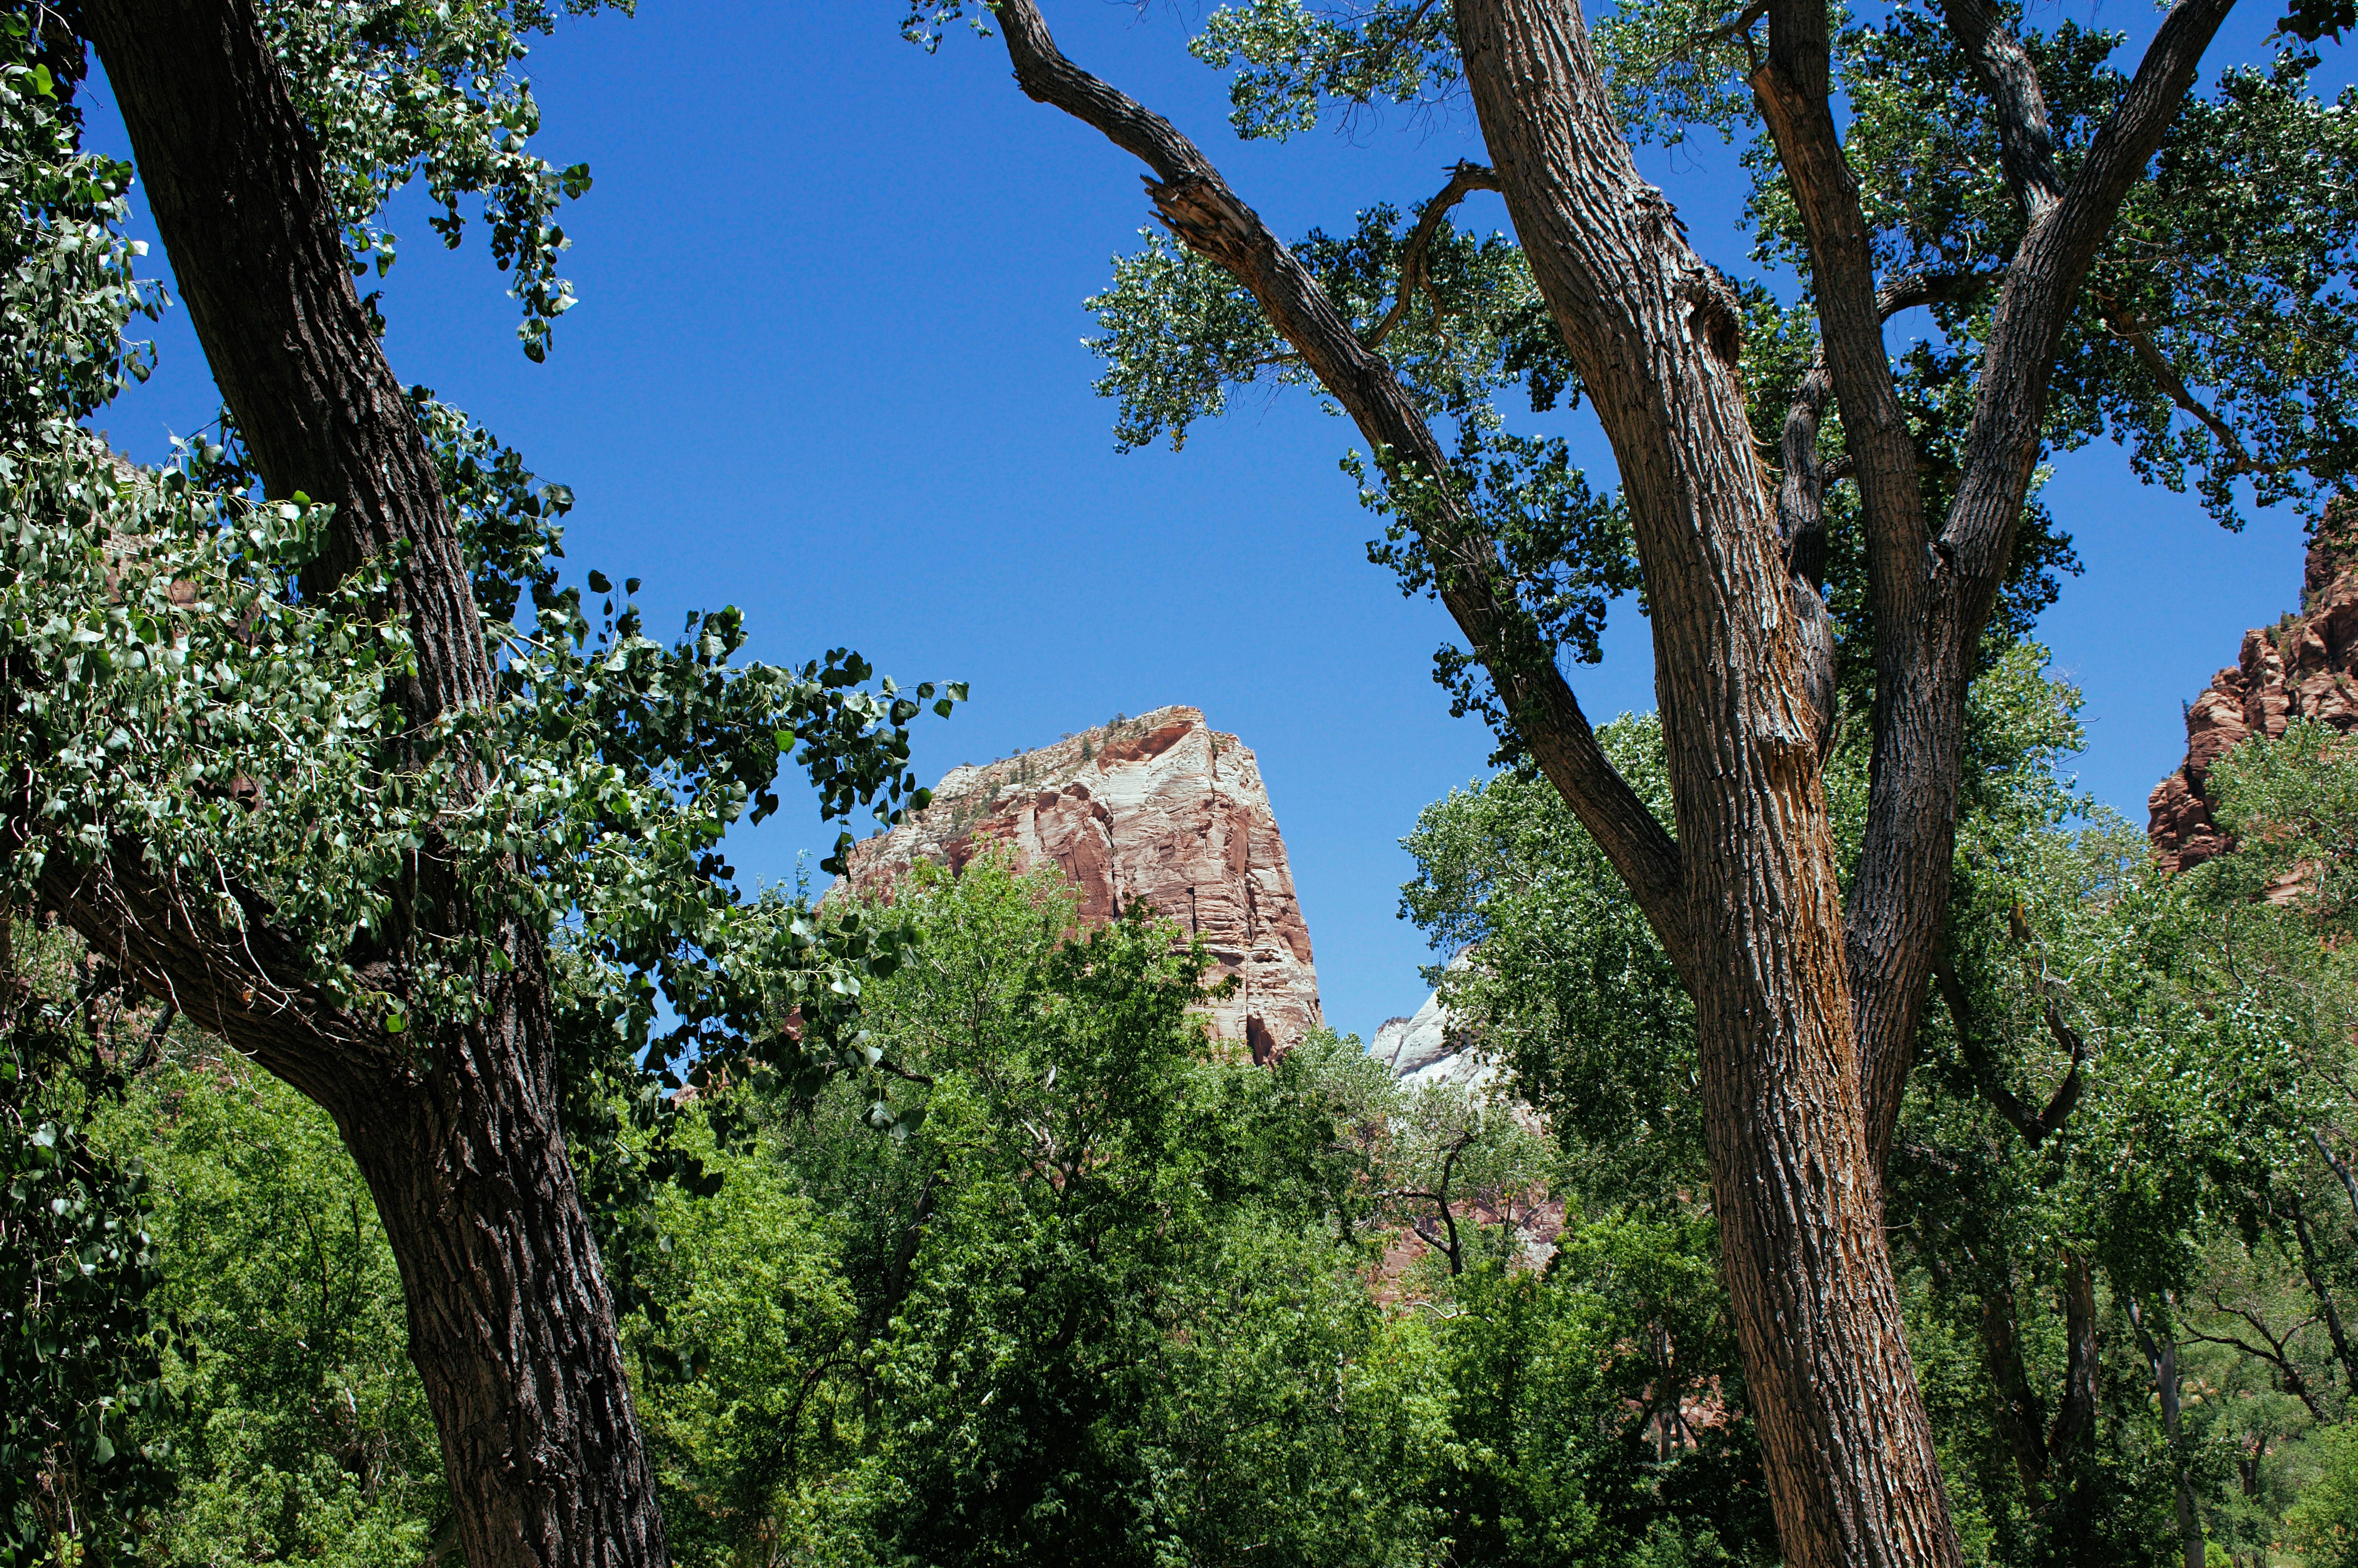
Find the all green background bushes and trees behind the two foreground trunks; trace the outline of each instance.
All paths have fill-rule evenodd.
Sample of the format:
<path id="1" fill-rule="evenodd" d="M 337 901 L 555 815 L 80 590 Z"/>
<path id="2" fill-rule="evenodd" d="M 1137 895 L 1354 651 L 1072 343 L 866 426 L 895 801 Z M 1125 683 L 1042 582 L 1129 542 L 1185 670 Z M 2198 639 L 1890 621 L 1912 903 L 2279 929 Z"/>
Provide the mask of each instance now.
<path id="1" fill-rule="evenodd" d="M 1952 1504 L 1988 1563 L 2181 1561 L 2181 1502 L 2214 1561 L 2353 1561 L 2358 755 L 2301 724 L 2235 752 L 2247 846 L 2160 877 L 2059 773 L 2075 703 L 2033 646 L 1978 686 L 1893 1160 Z M 1658 776 L 1651 719 L 1606 743 Z M 1177 927 L 1075 934 L 1066 884 L 986 856 L 901 889 L 917 957 L 865 995 L 889 1070 L 618 1101 L 599 1160 L 693 1172 L 604 1236 L 672 1556 L 1778 1561 L 1660 950 L 1526 776 L 1408 846 L 1405 910 L 1474 943 L 1436 974 L 1488 1082 L 1403 1087 L 1332 1035 L 1259 1068 L 1191 1014 Z M 87 1278 L 137 1294 L 113 1353 L 149 1375 L 97 1415 L 144 1483 L 52 1476 L 83 1511 L 45 1526 L 85 1561 L 448 1559 L 401 1283 L 325 1115 L 184 1023 L 75 1007 L 59 931 L 14 962 L 59 1172 L 14 1224 L 113 1205 L 134 1240 Z"/>

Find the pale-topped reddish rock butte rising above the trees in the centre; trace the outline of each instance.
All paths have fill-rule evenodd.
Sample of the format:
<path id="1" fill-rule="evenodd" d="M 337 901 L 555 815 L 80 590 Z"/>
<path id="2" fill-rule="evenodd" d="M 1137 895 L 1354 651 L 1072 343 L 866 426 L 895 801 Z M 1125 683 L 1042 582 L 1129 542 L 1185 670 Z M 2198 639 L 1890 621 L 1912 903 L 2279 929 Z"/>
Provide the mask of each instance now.
<path id="1" fill-rule="evenodd" d="M 851 884 L 889 887 L 917 858 L 964 868 L 990 844 L 1054 863 L 1085 922 L 1132 903 L 1203 936 L 1236 995 L 1207 1004 L 1212 1033 L 1273 1061 L 1323 1023 L 1311 931 L 1285 865 L 1262 769 L 1193 707 L 1068 736 L 990 766 L 953 769 L 934 804 L 851 851 Z"/>

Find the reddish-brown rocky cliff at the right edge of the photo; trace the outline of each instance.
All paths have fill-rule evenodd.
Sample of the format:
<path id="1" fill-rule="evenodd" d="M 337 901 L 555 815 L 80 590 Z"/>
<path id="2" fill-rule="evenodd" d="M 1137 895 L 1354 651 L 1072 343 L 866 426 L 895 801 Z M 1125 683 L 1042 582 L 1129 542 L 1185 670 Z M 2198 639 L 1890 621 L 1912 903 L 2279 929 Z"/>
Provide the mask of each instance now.
<path id="1" fill-rule="evenodd" d="M 2186 764 L 2153 788 L 2146 835 L 2169 870 L 2231 849 L 2212 821 L 2209 769 L 2294 717 L 2358 729 L 2358 505 L 2334 502 L 2301 573 L 2301 613 L 2242 634 L 2242 658 L 2186 710 Z"/>

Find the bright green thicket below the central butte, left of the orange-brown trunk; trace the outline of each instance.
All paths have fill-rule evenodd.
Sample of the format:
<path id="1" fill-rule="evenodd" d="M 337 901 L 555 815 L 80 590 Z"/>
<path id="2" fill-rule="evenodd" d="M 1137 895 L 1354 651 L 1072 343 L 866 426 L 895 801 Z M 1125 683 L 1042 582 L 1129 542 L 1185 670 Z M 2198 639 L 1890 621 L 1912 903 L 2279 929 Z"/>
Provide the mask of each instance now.
<path id="1" fill-rule="evenodd" d="M 868 995 L 927 1080 L 898 1134 L 856 1080 L 717 1087 L 660 1134 L 705 1193 L 656 1193 L 625 1342 L 677 1561 L 1773 1561 L 1707 1214 L 1599 1193 L 1540 1269 L 1483 1219 L 1561 1179 L 1511 1113 L 1353 1040 L 1207 1042 L 1205 955 L 1146 915 L 1073 938 L 1052 877 L 983 861 L 903 908 L 922 957 Z M 132 1037 L 78 1137 L 144 1172 L 160 1365 L 118 1441 L 170 1483 L 78 1537 L 448 1551 L 332 1127 L 182 1026 Z M 1410 1240 L 1427 1193 L 1455 1252 Z"/>

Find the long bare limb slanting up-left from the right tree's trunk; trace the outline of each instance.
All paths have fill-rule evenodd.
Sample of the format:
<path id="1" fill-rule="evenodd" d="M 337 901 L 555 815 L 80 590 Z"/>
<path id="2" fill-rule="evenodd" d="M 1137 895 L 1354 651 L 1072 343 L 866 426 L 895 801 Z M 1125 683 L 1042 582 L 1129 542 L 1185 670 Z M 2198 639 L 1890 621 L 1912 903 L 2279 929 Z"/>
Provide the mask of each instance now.
<path id="1" fill-rule="evenodd" d="M 1387 472 L 1445 476 L 1448 453 L 1391 363 L 1351 332 L 1309 269 L 1229 189 L 1212 160 L 1170 120 L 1068 61 L 1033 0 L 997 0 L 993 9 L 1023 94 L 1066 111 L 1153 170 L 1146 191 L 1162 224 L 1252 290 L 1361 434 L 1379 455 L 1389 453 Z M 1733 314 L 1728 325 L 1733 330 Z M 1497 684 L 1540 769 L 1603 846 L 1672 960 L 1681 960 L 1688 938 L 1679 846 L 1596 745 L 1580 700 L 1502 578 L 1495 540 L 1445 493 L 1434 495 L 1429 516 L 1410 521 L 1434 561 L 1443 606 Z"/>

